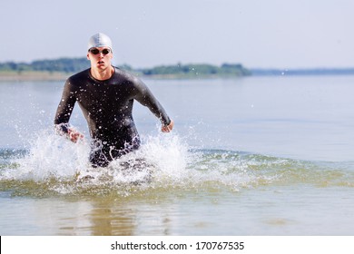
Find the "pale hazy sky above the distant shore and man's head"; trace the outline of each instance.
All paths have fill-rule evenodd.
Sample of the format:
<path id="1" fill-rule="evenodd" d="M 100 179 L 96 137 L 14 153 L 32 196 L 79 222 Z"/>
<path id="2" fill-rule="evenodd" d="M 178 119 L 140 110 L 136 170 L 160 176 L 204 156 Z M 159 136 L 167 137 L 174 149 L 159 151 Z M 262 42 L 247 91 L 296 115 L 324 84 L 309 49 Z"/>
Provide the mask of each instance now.
<path id="1" fill-rule="evenodd" d="M 354 67 L 352 0 L 0 1 L 0 63 L 85 57 L 102 32 L 135 68 Z"/>

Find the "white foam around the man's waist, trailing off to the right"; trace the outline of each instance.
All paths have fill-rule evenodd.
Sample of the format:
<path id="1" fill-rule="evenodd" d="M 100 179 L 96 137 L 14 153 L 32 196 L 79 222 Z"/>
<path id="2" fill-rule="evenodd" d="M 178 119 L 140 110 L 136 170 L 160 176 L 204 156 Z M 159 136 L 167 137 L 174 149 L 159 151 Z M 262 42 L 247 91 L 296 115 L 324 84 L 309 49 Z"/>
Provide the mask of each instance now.
<path id="1" fill-rule="evenodd" d="M 272 181 L 267 173 L 251 171 L 252 161 L 240 158 L 237 152 L 191 151 L 174 132 L 142 135 L 142 143 L 141 149 L 112 161 L 107 168 L 92 168 L 89 141 L 73 143 L 52 129 L 42 130 L 35 133 L 25 157 L 15 159 L 16 166 L 2 171 L 0 179 L 50 180 L 50 189 L 59 193 L 94 188 L 129 192 L 131 186 L 138 185 L 163 190 L 227 186 L 238 191 Z"/>

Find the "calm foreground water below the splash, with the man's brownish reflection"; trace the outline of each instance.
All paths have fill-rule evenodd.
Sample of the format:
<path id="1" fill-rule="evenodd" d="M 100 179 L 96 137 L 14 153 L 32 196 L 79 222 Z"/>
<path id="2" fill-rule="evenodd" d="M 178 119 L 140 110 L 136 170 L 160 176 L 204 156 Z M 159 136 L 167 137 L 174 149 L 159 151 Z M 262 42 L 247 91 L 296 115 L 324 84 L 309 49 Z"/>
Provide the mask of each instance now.
<path id="1" fill-rule="evenodd" d="M 310 191 L 309 191 L 310 190 Z M 338 196 L 340 191 L 340 198 Z M 159 192 L 122 199 L 11 199 L 2 235 L 352 235 L 352 190 Z M 329 205 L 330 204 L 330 205 Z M 25 211 L 25 212 L 24 212 Z M 1 212 L 3 216 L 4 212 Z M 5 222 L 6 218 L 7 223 Z M 15 219 L 15 220 L 14 220 Z M 341 226 L 339 226 L 341 225 Z M 348 226 L 346 226 L 348 225 Z M 5 230 L 5 231 L 4 231 Z"/>

